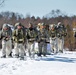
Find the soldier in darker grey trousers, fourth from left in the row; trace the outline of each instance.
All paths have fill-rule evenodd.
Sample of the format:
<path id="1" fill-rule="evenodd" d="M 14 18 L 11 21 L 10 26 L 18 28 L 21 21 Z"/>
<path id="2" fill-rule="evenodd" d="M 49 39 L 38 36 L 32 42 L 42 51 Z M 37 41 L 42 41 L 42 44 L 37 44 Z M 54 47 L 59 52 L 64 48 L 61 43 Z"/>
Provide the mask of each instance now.
<path id="1" fill-rule="evenodd" d="M 48 30 L 46 30 L 44 23 L 38 23 L 37 28 L 37 42 L 38 42 L 38 56 L 41 56 L 42 54 L 46 56 L 47 54 L 47 42 L 49 39 Z"/>

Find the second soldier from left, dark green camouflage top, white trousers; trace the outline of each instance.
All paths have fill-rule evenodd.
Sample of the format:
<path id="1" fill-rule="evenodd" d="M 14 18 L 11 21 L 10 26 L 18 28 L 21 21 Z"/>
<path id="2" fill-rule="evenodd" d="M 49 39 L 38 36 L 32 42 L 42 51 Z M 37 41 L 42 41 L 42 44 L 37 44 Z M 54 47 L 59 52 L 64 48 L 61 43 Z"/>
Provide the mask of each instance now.
<path id="1" fill-rule="evenodd" d="M 26 32 L 21 23 L 15 24 L 16 28 L 13 32 L 13 40 L 14 40 L 14 57 L 20 59 L 24 59 L 25 47 L 24 43 L 26 41 Z"/>

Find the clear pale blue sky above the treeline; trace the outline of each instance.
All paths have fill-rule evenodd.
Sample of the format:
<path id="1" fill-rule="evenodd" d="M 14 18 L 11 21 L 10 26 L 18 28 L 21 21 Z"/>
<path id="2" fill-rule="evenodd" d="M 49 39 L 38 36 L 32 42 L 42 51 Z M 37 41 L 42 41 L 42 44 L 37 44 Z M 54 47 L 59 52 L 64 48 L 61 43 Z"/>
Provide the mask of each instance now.
<path id="1" fill-rule="evenodd" d="M 76 15 L 75 7 L 76 0 L 6 0 L 0 12 L 12 11 L 24 16 L 43 17 L 51 10 L 59 9 L 68 15 Z"/>

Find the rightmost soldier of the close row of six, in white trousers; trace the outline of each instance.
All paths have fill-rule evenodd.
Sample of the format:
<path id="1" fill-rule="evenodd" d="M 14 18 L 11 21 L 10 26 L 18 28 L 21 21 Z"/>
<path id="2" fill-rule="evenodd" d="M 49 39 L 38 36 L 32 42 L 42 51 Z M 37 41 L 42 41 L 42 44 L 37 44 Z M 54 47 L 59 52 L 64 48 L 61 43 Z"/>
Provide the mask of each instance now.
<path id="1" fill-rule="evenodd" d="M 58 42 L 58 51 L 63 53 L 63 48 L 64 48 L 64 37 L 67 35 L 67 30 L 66 27 L 61 23 L 58 22 L 57 26 L 57 42 Z"/>

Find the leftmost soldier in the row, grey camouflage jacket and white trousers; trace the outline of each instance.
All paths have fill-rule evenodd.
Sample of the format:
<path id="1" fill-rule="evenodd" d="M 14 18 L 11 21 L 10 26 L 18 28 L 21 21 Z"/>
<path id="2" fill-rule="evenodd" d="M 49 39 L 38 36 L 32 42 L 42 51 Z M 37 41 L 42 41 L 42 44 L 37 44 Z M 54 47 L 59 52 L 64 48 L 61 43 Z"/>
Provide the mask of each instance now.
<path id="1" fill-rule="evenodd" d="M 8 24 L 3 24 L 1 31 L 1 40 L 2 40 L 2 56 L 1 58 L 11 57 L 12 56 L 12 30 Z"/>

